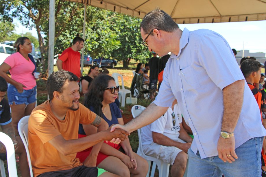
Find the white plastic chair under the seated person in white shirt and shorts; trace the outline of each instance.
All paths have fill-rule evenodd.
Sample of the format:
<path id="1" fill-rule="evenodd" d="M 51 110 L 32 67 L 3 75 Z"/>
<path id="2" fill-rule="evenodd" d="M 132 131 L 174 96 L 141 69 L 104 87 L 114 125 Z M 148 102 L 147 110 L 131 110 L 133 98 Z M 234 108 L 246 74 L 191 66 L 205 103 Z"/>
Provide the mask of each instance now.
<path id="1" fill-rule="evenodd" d="M 133 118 L 136 118 L 145 109 L 146 108 L 144 106 L 141 106 L 141 105 L 132 106 L 131 113 L 133 115 Z M 146 175 L 146 177 L 149 176 L 149 171 L 150 171 L 150 167 L 151 167 L 151 161 L 153 161 L 152 173 L 151 173 L 152 177 L 154 176 L 156 165 L 158 166 L 159 177 L 168 177 L 168 175 L 169 175 L 169 166 L 170 166 L 169 163 L 165 163 L 165 162 L 161 161 L 160 159 L 157 159 L 157 158 L 152 157 L 152 156 L 147 156 L 147 155 L 144 154 L 143 147 L 142 147 L 142 141 L 141 141 L 141 128 L 138 129 L 138 143 L 139 144 L 138 144 L 137 154 L 142 156 L 144 159 L 146 159 L 148 164 L 149 164 L 148 174 Z"/>

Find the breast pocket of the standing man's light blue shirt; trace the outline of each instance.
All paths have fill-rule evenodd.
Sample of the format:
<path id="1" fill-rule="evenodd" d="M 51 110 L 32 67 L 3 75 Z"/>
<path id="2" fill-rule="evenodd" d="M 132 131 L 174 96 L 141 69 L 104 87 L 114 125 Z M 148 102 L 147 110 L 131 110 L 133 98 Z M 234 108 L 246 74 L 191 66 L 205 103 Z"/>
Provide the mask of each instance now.
<path id="1" fill-rule="evenodd" d="M 200 88 L 199 81 L 196 77 L 195 71 L 191 66 L 180 70 L 183 90 L 192 91 Z"/>

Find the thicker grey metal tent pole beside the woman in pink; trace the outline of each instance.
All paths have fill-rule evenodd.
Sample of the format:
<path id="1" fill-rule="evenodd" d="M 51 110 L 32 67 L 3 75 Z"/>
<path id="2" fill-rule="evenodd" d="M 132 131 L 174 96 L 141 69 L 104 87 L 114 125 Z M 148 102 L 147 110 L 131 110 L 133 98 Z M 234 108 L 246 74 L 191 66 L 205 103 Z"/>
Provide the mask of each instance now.
<path id="1" fill-rule="evenodd" d="M 54 34 L 55 33 L 55 0 L 50 0 L 49 5 L 49 54 L 48 54 L 48 76 L 53 72 L 54 59 Z"/>

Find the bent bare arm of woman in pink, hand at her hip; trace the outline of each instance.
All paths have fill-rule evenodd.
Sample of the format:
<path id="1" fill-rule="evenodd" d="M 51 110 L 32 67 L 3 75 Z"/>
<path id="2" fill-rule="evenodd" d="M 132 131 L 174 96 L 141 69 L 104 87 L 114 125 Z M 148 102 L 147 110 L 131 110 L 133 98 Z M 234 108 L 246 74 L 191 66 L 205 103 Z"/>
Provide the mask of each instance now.
<path id="1" fill-rule="evenodd" d="M 11 69 L 11 67 L 8 64 L 6 64 L 5 62 L 3 62 L 0 65 L 0 76 L 3 77 L 8 83 L 14 85 L 19 93 L 22 93 L 23 87 L 26 87 L 26 86 L 23 85 L 22 83 L 16 82 L 15 80 L 11 79 L 8 76 L 8 74 L 6 74 L 6 72 L 8 72 L 8 70 L 10 70 L 10 69 Z"/>

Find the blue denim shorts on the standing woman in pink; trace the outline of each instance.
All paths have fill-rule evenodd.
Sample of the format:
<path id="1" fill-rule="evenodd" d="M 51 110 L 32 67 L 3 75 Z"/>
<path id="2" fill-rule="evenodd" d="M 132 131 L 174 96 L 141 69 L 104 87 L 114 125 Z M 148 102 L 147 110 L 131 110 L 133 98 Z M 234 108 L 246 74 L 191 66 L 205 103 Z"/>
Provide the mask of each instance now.
<path id="1" fill-rule="evenodd" d="M 37 85 L 29 90 L 23 90 L 19 93 L 16 87 L 12 84 L 8 86 L 8 103 L 10 105 L 31 104 L 37 100 Z"/>

